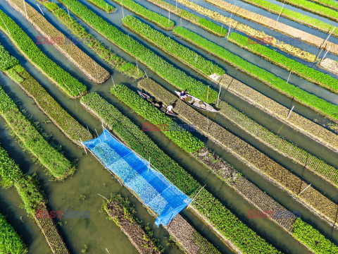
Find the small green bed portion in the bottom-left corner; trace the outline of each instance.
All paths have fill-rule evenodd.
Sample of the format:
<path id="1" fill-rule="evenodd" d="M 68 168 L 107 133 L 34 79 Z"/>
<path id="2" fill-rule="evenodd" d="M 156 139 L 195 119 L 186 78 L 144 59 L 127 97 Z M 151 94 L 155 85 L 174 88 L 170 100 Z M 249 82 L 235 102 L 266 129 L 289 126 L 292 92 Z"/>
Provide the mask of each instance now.
<path id="1" fill-rule="evenodd" d="M 1 162 L 0 162 L 1 163 Z M 8 254 L 25 254 L 27 246 L 18 233 L 9 224 L 6 217 L 0 213 L 0 252 Z"/>

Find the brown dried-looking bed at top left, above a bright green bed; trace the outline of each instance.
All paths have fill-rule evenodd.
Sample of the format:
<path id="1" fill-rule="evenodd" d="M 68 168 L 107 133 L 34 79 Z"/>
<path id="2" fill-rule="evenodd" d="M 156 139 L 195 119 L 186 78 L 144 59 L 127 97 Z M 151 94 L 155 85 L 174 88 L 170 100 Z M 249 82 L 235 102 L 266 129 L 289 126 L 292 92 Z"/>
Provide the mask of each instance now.
<path id="1" fill-rule="evenodd" d="M 110 74 L 90 56 L 82 52 L 74 43 L 66 42 L 67 38 L 49 23 L 42 14 L 32 8 L 30 4 L 25 4 L 20 0 L 6 0 L 15 10 L 19 11 L 42 35 L 43 40 L 37 37 L 37 44 L 44 43 L 46 40 L 55 40 L 51 43 L 63 54 L 71 63 L 79 68 L 84 75 L 95 83 L 104 83 Z"/>

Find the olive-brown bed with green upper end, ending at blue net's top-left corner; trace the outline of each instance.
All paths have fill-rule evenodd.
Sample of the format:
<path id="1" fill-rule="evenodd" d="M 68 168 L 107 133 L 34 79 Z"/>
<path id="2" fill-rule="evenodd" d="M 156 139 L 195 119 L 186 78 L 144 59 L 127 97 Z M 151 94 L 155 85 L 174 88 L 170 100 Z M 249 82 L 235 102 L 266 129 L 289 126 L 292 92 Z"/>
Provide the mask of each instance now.
<path id="1" fill-rule="evenodd" d="M 73 119 L 65 109 L 40 85 L 35 78 L 20 66 L 17 59 L 11 56 L 4 47 L 0 45 L 0 69 L 12 78 L 15 83 L 32 97 L 37 106 L 53 121 L 65 135 L 77 145 L 81 141 L 92 139 L 92 135 L 79 122 Z"/>

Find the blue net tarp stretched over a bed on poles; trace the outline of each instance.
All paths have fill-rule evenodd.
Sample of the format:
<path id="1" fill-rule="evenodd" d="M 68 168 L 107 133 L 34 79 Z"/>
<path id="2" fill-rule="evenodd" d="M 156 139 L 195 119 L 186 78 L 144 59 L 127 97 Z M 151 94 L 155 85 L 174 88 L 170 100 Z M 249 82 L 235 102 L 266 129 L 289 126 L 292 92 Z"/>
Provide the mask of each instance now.
<path id="1" fill-rule="evenodd" d="M 157 226 L 167 226 L 192 201 L 106 129 L 98 138 L 84 142 L 84 145 L 158 214 L 155 222 Z"/>

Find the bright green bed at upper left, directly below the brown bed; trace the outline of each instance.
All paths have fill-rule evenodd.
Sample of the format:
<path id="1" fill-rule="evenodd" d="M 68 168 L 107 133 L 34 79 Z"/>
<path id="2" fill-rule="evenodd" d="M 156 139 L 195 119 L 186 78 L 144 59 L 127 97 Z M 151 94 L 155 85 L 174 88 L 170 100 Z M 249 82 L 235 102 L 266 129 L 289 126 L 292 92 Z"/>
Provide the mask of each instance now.
<path id="1" fill-rule="evenodd" d="M 87 87 L 76 78 L 64 71 L 54 61 L 51 61 L 37 47 L 30 37 L 3 11 L 0 10 L 0 29 L 11 39 L 15 47 L 30 61 L 39 68 L 44 75 L 53 81 L 58 87 L 70 97 L 78 97 L 87 92 Z"/>

